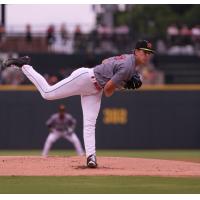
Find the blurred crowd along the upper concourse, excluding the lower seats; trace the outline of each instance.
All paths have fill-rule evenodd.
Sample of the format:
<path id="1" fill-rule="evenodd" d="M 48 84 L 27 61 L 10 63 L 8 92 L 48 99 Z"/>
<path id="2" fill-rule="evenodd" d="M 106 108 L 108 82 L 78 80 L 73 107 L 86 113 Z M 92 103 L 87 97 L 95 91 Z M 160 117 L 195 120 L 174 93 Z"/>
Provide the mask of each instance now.
<path id="1" fill-rule="evenodd" d="M 6 30 L 3 26 L 0 26 L 1 49 L 3 49 L 3 43 L 10 39 L 6 35 Z M 24 37 L 25 42 L 29 44 L 23 46 L 24 51 L 32 51 L 35 35 L 30 24 L 25 26 L 25 31 L 20 36 Z M 76 25 L 74 31 L 69 32 L 66 24 L 61 24 L 57 28 L 51 24 L 47 27 L 45 33 L 41 33 L 40 37 L 47 47 L 46 51 L 66 54 L 130 52 L 136 40 L 140 38 L 127 25 L 114 28 L 98 25 L 90 33 L 83 33 L 80 25 Z M 165 37 L 155 39 L 151 36 L 151 38 L 160 54 L 200 55 L 200 25 L 189 28 L 186 24 L 179 26 L 171 24 L 166 29 Z M 36 47 L 38 47 L 38 51 L 41 50 L 40 45 Z"/>

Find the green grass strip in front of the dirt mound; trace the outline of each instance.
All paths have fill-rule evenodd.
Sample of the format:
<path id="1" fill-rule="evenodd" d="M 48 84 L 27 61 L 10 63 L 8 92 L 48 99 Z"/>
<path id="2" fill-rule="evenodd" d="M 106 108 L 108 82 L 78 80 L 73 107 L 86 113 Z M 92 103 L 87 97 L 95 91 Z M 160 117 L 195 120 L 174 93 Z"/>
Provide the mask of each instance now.
<path id="1" fill-rule="evenodd" d="M 198 178 L 0 177 L 4 194 L 200 194 Z"/>

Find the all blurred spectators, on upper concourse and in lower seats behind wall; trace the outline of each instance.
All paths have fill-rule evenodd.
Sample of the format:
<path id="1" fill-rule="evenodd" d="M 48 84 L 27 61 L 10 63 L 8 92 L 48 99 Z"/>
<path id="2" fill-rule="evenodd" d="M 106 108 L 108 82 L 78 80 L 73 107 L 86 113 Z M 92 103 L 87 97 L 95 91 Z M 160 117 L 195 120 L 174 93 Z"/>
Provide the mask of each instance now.
<path id="1" fill-rule="evenodd" d="M 34 42 L 34 33 L 32 26 L 27 24 L 25 32 L 22 34 L 24 41 L 28 44 L 28 49 L 31 51 Z M 90 33 L 83 33 L 81 26 L 77 25 L 70 33 L 65 24 L 56 29 L 54 25 L 49 25 L 42 37 L 47 46 L 47 52 L 66 53 L 66 54 L 113 54 L 130 53 L 134 47 L 137 37 L 126 25 L 118 26 L 113 29 L 101 25 L 97 26 Z M 0 26 L 0 45 L 6 43 L 6 30 Z M 154 40 L 155 48 L 159 54 L 169 55 L 200 55 L 200 25 L 189 28 L 183 24 L 177 26 L 171 24 L 166 30 L 166 37 Z M 38 48 L 40 48 L 38 46 Z M 39 51 L 39 49 L 38 49 Z M 88 62 L 91 60 L 88 59 Z M 83 63 L 87 66 L 88 63 Z M 89 67 L 95 66 L 95 63 L 90 63 Z M 16 70 L 14 70 L 16 71 Z M 55 84 L 61 79 L 65 78 L 71 73 L 72 69 L 63 69 L 56 75 L 44 74 L 44 77 L 49 84 Z M 24 75 L 19 71 L 13 74 L 12 71 L 4 71 L 1 73 L 1 84 L 27 84 L 29 83 Z M 162 72 L 156 70 L 153 63 L 142 68 L 141 74 L 144 78 L 143 82 L 146 84 L 157 84 L 164 82 L 164 75 Z"/>

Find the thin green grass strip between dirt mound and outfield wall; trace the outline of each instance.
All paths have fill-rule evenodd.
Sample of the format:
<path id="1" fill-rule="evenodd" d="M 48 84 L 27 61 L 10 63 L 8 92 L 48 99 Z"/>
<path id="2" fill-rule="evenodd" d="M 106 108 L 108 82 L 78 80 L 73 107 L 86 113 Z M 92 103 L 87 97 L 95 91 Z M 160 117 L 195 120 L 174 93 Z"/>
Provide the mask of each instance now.
<path id="1" fill-rule="evenodd" d="M 39 150 L 0 150 L 0 156 L 41 155 Z M 52 150 L 51 156 L 75 156 L 74 150 Z M 97 156 L 173 159 L 200 162 L 198 150 L 97 150 Z"/>

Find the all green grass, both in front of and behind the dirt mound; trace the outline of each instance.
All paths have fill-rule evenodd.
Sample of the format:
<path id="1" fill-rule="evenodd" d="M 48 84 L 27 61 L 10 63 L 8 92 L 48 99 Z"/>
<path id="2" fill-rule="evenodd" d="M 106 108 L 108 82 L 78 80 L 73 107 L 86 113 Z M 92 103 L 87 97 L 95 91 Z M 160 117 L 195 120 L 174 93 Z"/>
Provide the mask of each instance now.
<path id="1" fill-rule="evenodd" d="M 41 151 L 4 151 L 0 156 L 40 155 Z M 52 156 L 75 156 L 53 150 Z M 98 156 L 140 157 L 200 162 L 200 150 L 98 150 Z M 200 178 L 174 177 L 0 177 L 0 194 L 200 194 Z"/>

